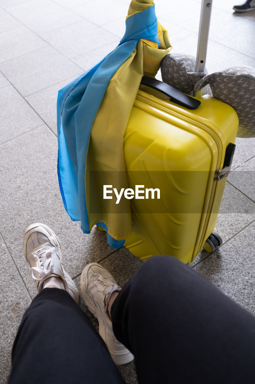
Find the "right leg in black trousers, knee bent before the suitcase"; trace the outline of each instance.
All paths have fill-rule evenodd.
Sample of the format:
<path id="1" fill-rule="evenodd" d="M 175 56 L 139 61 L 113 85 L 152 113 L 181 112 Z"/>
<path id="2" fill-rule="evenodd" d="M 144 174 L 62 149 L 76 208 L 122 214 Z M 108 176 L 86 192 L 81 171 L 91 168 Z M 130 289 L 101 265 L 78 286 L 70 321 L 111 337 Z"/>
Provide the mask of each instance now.
<path id="1" fill-rule="evenodd" d="M 111 307 L 140 383 L 253 383 L 255 317 L 169 256 L 144 262 Z"/>

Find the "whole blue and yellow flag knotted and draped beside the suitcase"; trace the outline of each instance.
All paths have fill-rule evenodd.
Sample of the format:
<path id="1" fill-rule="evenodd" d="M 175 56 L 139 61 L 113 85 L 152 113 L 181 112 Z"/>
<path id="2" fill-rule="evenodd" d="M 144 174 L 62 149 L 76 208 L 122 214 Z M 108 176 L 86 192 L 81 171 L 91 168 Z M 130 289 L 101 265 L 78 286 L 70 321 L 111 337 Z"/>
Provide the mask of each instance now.
<path id="1" fill-rule="evenodd" d="M 123 155 L 127 121 L 142 76 L 154 77 L 171 48 L 154 2 L 132 0 L 119 45 L 58 94 L 57 169 L 65 210 L 72 220 L 80 220 L 84 233 L 99 223 L 111 247 L 121 247 L 131 234 L 129 200 L 125 213 L 111 210 L 115 202 L 103 200 L 97 177 L 104 172 L 107 184 L 128 187 Z M 97 212 L 90 212 L 91 205 L 98 206 Z"/>

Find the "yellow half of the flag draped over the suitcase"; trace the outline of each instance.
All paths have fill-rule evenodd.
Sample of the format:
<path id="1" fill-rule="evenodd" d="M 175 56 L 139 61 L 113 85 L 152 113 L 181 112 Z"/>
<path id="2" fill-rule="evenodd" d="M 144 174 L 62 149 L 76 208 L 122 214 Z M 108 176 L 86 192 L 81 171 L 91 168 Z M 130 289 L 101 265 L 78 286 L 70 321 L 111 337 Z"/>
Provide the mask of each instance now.
<path id="1" fill-rule="evenodd" d="M 128 16 L 141 12 L 153 1 L 132 0 Z M 85 186 L 90 228 L 97 222 L 108 226 L 116 240 L 127 238 L 132 231 L 129 200 L 124 197 L 103 199 L 103 185 L 118 191 L 128 188 L 123 153 L 123 137 L 129 115 L 143 75 L 154 77 L 160 62 L 171 50 L 167 30 L 158 23 L 160 48 L 152 41 L 139 40 L 136 49 L 111 78 L 96 114 L 88 145 Z"/>

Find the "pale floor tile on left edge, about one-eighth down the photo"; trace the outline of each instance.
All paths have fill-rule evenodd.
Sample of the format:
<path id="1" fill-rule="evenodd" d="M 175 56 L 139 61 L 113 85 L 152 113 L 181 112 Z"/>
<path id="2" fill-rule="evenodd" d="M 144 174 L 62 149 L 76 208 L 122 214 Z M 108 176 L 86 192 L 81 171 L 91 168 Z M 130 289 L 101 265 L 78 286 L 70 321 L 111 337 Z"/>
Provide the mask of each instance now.
<path id="1" fill-rule="evenodd" d="M 7 60 L 45 46 L 47 46 L 47 43 L 25 26 L 13 28 L 0 34 L 0 62 L 4 63 Z"/>

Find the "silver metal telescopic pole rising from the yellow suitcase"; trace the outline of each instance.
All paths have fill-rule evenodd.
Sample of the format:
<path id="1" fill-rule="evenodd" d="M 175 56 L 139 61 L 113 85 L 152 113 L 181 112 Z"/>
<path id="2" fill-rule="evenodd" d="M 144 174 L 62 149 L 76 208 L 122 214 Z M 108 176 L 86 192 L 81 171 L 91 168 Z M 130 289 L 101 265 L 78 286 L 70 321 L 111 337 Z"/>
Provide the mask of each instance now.
<path id="1" fill-rule="evenodd" d="M 212 0 L 202 0 L 198 33 L 198 48 L 196 52 L 196 72 L 204 72 L 205 68 L 211 9 Z M 193 96 L 202 96 L 202 89 L 198 92 L 194 91 Z"/>

